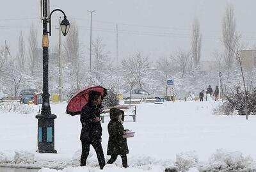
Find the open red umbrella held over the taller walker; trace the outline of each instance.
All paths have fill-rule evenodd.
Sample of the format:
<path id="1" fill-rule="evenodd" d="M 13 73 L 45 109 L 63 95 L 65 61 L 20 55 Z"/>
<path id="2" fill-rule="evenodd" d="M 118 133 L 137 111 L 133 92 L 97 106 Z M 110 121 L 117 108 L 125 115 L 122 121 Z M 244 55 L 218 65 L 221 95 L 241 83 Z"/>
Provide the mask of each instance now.
<path id="1" fill-rule="evenodd" d="M 84 88 L 83 90 L 78 91 L 70 99 L 67 105 L 66 113 L 71 114 L 72 116 L 76 114 L 81 114 L 82 107 L 88 103 L 90 91 L 100 92 L 103 98 L 107 95 L 106 88 L 103 88 L 102 86 L 93 86 L 93 87 Z"/>

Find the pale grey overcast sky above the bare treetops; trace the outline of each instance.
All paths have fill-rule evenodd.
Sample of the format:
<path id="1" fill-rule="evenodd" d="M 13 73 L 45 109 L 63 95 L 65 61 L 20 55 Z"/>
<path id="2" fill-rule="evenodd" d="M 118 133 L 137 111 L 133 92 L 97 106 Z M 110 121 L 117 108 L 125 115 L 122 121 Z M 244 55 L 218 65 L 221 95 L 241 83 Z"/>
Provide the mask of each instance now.
<path id="1" fill-rule="evenodd" d="M 88 58 L 90 47 L 90 13 L 92 37 L 102 38 L 106 51 L 116 56 L 116 24 L 118 24 L 119 58 L 127 58 L 134 52 L 142 52 L 150 59 L 170 56 L 175 51 L 191 47 L 191 26 L 195 17 L 202 33 L 202 60 L 211 58 L 213 51 L 221 51 L 221 20 L 225 6 L 231 2 L 235 8 L 237 31 L 243 34 L 248 48 L 256 47 L 256 1 L 255 0 L 50 0 L 51 10 L 61 8 L 69 20 L 75 20 L 79 28 L 84 56 Z M 28 40 L 29 26 L 34 22 L 38 28 L 41 45 L 42 24 L 39 22 L 39 0 L 2 0 L 0 6 L 0 45 L 4 40 L 16 56 L 19 32 Z M 55 26 L 61 13 L 52 15 L 50 46 L 58 41 Z M 28 43 L 27 43 L 28 44 Z"/>

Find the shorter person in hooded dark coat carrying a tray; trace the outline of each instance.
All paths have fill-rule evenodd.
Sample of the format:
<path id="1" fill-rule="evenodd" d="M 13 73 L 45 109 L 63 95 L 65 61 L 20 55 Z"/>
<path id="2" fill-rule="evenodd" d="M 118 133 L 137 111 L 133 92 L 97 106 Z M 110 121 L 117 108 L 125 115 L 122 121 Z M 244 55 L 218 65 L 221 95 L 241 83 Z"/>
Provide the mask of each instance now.
<path id="1" fill-rule="evenodd" d="M 113 164 L 117 159 L 117 156 L 120 155 L 122 159 L 122 164 L 124 168 L 128 167 L 127 156 L 129 153 L 127 141 L 123 137 L 124 127 L 121 123 L 122 120 L 122 111 L 117 108 L 111 108 L 109 111 L 110 121 L 108 123 L 108 151 L 107 155 L 111 155 L 111 158 L 108 160 L 108 164 Z"/>

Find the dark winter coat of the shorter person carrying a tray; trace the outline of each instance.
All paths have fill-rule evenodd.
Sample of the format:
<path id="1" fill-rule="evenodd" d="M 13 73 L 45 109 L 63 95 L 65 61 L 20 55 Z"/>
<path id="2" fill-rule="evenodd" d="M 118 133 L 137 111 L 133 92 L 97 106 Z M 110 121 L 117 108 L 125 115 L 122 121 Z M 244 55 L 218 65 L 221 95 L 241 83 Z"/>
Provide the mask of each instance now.
<path id="1" fill-rule="evenodd" d="M 108 123 L 108 150 L 107 155 L 125 155 L 129 153 L 127 140 L 123 137 L 124 127 L 117 119 Z"/>

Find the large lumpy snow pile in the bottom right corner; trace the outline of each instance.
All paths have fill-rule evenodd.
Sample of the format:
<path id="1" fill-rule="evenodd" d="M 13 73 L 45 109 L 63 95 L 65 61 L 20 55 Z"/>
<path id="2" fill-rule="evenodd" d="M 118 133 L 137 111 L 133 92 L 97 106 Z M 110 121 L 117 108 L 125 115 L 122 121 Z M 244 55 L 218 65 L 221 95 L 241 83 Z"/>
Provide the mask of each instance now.
<path id="1" fill-rule="evenodd" d="M 251 157 L 243 157 L 241 152 L 225 152 L 219 149 L 209 159 L 209 166 L 202 169 L 212 171 L 256 171 Z"/>

